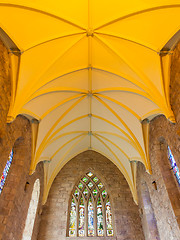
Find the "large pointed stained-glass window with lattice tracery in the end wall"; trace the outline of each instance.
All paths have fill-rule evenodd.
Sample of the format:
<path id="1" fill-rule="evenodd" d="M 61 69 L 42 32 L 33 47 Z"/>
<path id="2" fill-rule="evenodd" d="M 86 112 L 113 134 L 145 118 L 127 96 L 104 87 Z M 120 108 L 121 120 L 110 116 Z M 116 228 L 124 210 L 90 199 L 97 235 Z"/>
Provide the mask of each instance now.
<path id="1" fill-rule="evenodd" d="M 109 195 L 92 172 L 73 189 L 68 222 L 69 237 L 114 236 Z"/>

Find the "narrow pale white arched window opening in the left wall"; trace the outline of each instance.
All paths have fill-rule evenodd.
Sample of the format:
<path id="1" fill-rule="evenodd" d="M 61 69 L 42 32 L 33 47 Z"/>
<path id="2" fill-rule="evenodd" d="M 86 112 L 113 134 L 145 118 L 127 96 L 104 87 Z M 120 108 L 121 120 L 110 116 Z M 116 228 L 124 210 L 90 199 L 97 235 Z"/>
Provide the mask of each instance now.
<path id="1" fill-rule="evenodd" d="M 39 195 L 40 195 L 40 181 L 39 179 L 36 179 L 33 187 L 31 201 L 29 204 L 22 240 L 31 240 L 34 228 L 34 221 L 36 218 L 36 211 L 39 202 Z"/>

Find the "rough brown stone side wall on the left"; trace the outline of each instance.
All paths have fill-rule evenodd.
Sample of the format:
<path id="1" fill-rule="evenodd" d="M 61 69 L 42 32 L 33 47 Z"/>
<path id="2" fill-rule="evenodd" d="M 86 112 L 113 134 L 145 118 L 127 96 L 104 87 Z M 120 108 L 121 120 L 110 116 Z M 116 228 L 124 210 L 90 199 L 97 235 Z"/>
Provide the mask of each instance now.
<path id="1" fill-rule="evenodd" d="M 10 105 L 10 63 L 8 51 L 0 41 L 0 175 L 6 165 L 11 149 L 14 157 L 5 186 L 0 195 L 0 239 L 20 240 L 31 199 L 33 183 L 41 181 L 43 191 L 43 165 L 39 164 L 36 172 L 29 176 L 31 161 L 31 125 L 28 119 L 18 116 L 11 124 L 6 123 Z M 25 189 L 26 182 L 29 182 Z M 33 238 L 36 239 L 39 217 Z"/>

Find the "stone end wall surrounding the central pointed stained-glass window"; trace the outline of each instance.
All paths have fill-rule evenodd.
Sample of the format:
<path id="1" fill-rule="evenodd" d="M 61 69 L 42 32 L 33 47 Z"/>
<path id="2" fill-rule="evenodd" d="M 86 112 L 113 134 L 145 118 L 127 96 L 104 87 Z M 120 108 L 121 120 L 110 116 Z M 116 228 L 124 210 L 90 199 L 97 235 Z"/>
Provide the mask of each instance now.
<path id="1" fill-rule="evenodd" d="M 55 178 L 43 208 L 38 240 L 66 239 L 71 192 L 77 181 L 88 171 L 101 179 L 110 195 L 117 239 L 144 239 L 138 207 L 132 199 L 124 176 L 104 156 L 94 151 L 86 151 L 69 161 Z"/>

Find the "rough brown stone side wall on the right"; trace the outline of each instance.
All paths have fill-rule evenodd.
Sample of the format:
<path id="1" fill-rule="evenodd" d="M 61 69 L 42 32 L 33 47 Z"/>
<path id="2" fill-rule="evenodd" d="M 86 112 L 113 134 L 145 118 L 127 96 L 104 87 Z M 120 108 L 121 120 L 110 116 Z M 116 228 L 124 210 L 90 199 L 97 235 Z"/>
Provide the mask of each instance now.
<path id="1" fill-rule="evenodd" d="M 172 56 L 170 100 L 176 124 L 170 123 L 164 116 L 158 116 L 150 123 L 149 148 L 152 175 L 150 176 L 145 172 L 141 163 L 138 164 L 139 208 L 146 239 L 148 239 L 149 233 L 142 216 L 145 213 L 145 206 L 141 200 L 144 183 L 148 187 L 160 239 L 180 239 L 180 188 L 170 170 L 171 167 L 167 159 L 167 145 L 169 145 L 180 169 L 180 43 Z M 152 184 L 153 181 L 157 183 L 157 190 Z"/>

